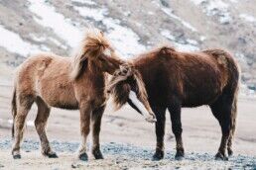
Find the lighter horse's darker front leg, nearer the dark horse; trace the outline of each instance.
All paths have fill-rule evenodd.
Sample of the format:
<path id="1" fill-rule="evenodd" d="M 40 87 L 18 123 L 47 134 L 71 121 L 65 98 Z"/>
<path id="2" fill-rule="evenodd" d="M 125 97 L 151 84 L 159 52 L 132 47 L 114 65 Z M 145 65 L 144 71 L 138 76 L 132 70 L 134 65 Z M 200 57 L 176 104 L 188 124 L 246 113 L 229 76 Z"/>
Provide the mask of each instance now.
<path id="1" fill-rule="evenodd" d="M 91 123 L 92 123 L 92 154 L 95 157 L 95 159 L 103 159 L 103 155 L 100 151 L 100 143 L 99 143 L 99 132 L 100 132 L 100 126 L 101 126 L 101 118 L 104 113 L 105 106 L 102 106 L 100 108 L 97 108 L 93 110 L 91 115 Z"/>

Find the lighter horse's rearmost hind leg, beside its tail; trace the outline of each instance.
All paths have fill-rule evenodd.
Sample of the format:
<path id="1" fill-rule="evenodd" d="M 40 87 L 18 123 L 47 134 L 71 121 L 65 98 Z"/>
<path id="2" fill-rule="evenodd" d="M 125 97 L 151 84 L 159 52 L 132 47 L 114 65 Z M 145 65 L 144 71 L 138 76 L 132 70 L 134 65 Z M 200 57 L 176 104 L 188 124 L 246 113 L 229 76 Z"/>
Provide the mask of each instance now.
<path id="1" fill-rule="evenodd" d="M 33 103 L 34 103 L 34 98 L 31 95 L 19 96 L 17 98 L 17 115 L 15 116 L 15 120 L 14 120 L 14 124 L 15 124 L 14 140 L 15 141 L 12 148 L 12 155 L 14 159 L 21 158 L 20 143 L 23 138 L 24 124 Z"/>

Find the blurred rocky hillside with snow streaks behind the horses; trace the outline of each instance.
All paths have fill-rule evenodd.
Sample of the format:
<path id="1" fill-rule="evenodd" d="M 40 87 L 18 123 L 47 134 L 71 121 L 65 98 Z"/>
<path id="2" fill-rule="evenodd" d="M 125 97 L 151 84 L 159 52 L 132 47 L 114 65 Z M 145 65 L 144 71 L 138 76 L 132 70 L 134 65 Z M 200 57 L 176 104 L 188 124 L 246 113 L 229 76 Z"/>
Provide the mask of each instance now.
<path id="1" fill-rule="evenodd" d="M 255 0 L 0 0 L 1 82 L 31 53 L 68 56 L 88 26 L 125 58 L 162 43 L 227 49 L 241 65 L 244 94 L 256 91 Z"/>

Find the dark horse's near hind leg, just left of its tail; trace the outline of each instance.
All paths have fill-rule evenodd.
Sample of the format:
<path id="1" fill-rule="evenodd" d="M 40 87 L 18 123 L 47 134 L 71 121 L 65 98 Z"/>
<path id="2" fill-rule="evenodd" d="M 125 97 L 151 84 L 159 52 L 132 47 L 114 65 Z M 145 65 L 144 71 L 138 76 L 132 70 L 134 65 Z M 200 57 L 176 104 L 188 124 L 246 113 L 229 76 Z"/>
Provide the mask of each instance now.
<path id="1" fill-rule="evenodd" d="M 231 114 L 232 103 L 232 98 L 229 95 L 224 94 L 210 105 L 210 109 L 214 117 L 218 120 L 222 132 L 220 146 L 217 154 L 215 155 L 216 159 L 228 159 L 226 157 L 225 150 L 229 135 L 231 134 L 231 127 L 233 126 Z"/>

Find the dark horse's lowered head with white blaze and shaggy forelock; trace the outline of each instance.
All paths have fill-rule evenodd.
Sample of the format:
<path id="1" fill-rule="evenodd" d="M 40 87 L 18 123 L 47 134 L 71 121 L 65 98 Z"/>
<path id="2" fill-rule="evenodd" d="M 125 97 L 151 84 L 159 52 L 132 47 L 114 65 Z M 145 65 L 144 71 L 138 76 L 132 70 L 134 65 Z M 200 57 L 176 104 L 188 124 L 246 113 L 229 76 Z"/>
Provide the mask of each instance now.
<path id="1" fill-rule="evenodd" d="M 156 122 L 141 74 L 131 65 L 121 65 L 120 69 L 113 74 L 106 90 L 108 94 L 112 95 L 116 109 L 120 109 L 125 103 L 128 103 L 144 116 L 146 121 Z"/>

